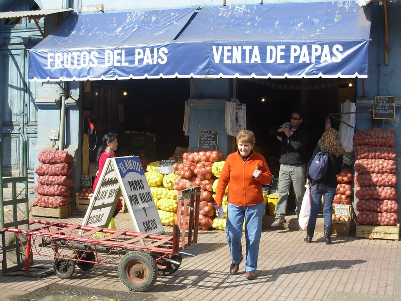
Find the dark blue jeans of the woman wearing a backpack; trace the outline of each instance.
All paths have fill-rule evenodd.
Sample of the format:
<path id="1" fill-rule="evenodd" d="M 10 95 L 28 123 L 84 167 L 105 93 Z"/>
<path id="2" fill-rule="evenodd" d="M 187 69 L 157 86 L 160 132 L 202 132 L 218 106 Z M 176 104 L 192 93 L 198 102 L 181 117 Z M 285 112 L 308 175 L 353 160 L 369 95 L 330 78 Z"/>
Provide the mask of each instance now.
<path id="1" fill-rule="evenodd" d="M 317 215 L 319 214 L 321 200 L 323 196 L 323 215 L 324 215 L 324 224 L 330 226 L 333 222 L 332 218 L 332 208 L 333 208 L 333 200 L 335 196 L 336 188 L 328 187 L 323 183 L 316 183 L 311 185 L 310 195 L 311 195 L 311 209 L 310 209 L 310 218 L 309 224 L 316 225 Z"/>

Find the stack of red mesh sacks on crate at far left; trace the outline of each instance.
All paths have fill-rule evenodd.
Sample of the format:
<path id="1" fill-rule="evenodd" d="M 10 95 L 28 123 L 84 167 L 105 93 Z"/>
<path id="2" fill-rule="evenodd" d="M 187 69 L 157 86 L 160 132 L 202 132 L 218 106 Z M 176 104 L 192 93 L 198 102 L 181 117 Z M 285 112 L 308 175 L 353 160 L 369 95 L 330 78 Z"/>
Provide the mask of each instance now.
<path id="1" fill-rule="evenodd" d="M 71 203 L 69 178 L 74 157 L 65 150 L 44 150 L 38 155 L 41 165 L 35 169 L 38 185 L 34 187 L 37 195 L 35 203 L 40 207 L 59 208 Z"/>

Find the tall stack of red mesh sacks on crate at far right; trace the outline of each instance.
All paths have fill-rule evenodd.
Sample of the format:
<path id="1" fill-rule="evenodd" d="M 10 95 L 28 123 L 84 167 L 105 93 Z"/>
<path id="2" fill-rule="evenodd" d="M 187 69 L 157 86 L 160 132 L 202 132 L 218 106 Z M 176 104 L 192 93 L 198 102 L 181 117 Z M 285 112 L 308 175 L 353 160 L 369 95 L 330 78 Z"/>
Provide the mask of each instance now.
<path id="1" fill-rule="evenodd" d="M 357 222 L 363 225 L 396 226 L 395 131 L 373 128 L 354 135 L 355 197 Z"/>

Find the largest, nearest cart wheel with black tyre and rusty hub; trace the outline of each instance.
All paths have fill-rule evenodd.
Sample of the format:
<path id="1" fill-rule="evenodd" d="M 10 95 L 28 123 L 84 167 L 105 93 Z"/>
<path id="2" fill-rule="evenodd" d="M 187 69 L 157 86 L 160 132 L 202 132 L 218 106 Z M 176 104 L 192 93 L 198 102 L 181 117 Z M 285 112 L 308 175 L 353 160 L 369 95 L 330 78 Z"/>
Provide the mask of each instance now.
<path id="1" fill-rule="evenodd" d="M 130 291 L 148 291 L 157 279 L 156 262 L 148 253 L 131 251 L 121 258 L 118 275 Z"/>

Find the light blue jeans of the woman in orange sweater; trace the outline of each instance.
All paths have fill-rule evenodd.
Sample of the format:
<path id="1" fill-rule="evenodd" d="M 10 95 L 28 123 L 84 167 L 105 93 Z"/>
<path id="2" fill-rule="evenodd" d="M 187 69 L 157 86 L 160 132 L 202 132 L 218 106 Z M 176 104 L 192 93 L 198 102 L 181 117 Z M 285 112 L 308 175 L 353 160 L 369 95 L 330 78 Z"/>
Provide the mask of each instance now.
<path id="1" fill-rule="evenodd" d="M 263 202 L 253 206 L 227 206 L 226 237 L 234 264 L 242 259 L 242 224 L 245 217 L 245 271 L 254 272 L 258 265 L 259 241 L 262 232 Z"/>

